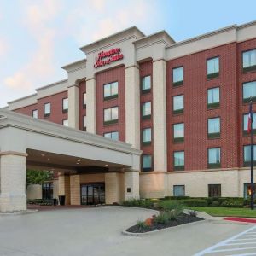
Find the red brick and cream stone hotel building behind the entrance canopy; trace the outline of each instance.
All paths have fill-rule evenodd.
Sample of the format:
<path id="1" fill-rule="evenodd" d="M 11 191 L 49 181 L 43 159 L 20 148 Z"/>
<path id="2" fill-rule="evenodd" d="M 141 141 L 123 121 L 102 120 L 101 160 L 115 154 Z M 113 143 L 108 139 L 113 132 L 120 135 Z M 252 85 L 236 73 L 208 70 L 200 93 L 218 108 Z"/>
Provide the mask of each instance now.
<path id="1" fill-rule="evenodd" d="M 168 195 L 247 196 L 256 22 L 182 42 L 165 31 L 146 36 L 133 26 L 80 50 L 86 58 L 62 67 L 67 79 L 9 102 L 7 109 L 58 124 L 64 134 L 75 129 L 92 141 L 90 134 L 106 137 L 106 147 L 129 146 L 139 164 L 130 166 L 125 177 L 122 168 L 83 163 L 79 156 L 69 172 L 65 159 L 55 156 L 57 162 L 44 165 L 59 172 L 54 195 L 66 195 L 67 204 Z M 253 111 L 256 120 L 255 104 Z M 62 147 L 73 150 L 68 143 Z M 26 154 L 26 166 L 44 162 L 36 156 L 28 160 L 29 150 Z"/>

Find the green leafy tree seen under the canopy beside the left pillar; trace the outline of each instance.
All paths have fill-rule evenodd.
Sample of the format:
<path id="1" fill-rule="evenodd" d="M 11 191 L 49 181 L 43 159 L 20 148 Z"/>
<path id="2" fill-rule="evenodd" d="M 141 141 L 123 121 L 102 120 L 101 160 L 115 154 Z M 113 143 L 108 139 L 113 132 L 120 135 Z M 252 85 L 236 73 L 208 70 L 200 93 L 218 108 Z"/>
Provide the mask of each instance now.
<path id="1" fill-rule="evenodd" d="M 43 184 L 53 178 L 53 173 L 49 171 L 26 170 L 26 188 L 31 184 Z"/>

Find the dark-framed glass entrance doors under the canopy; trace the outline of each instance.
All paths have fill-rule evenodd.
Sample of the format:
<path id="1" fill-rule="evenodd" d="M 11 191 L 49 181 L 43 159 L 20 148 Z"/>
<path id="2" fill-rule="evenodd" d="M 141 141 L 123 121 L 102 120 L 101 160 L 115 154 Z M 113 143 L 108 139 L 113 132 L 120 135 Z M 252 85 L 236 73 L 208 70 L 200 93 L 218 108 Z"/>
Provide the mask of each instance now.
<path id="1" fill-rule="evenodd" d="M 81 205 L 98 205 L 105 203 L 105 184 L 93 183 L 81 185 Z"/>

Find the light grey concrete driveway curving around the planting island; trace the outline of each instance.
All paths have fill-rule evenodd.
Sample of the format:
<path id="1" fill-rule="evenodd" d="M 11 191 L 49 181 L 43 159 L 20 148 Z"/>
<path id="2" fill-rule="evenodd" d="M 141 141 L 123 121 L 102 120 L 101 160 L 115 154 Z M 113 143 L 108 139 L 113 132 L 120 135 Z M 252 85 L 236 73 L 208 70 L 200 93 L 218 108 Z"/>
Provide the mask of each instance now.
<path id="1" fill-rule="evenodd" d="M 152 214 L 137 208 L 92 207 L 1 216 L 0 255 L 185 256 L 250 227 L 213 221 L 145 237 L 121 234 Z"/>

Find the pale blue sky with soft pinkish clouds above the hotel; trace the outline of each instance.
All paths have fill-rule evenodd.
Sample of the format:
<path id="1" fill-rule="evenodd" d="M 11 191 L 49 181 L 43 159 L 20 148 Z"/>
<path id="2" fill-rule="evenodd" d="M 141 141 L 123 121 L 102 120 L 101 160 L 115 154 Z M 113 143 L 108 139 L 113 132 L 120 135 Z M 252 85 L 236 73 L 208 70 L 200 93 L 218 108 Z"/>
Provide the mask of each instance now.
<path id="1" fill-rule="evenodd" d="M 255 0 L 0 0 L 0 107 L 67 79 L 79 47 L 130 26 L 178 42 L 253 20 Z"/>

